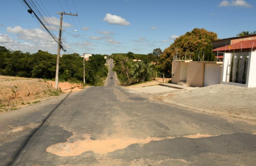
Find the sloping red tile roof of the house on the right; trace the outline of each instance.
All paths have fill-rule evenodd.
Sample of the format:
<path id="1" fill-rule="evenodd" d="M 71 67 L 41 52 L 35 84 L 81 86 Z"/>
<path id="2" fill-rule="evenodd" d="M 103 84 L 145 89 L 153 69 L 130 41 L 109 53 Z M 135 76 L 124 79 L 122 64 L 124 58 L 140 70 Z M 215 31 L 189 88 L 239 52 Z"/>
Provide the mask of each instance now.
<path id="1" fill-rule="evenodd" d="M 230 44 L 224 47 L 216 48 L 212 51 L 225 51 L 225 50 L 240 50 L 242 46 L 242 49 L 250 49 L 250 48 L 256 48 L 256 40 L 248 40 L 248 41 L 241 41 L 235 44 Z"/>

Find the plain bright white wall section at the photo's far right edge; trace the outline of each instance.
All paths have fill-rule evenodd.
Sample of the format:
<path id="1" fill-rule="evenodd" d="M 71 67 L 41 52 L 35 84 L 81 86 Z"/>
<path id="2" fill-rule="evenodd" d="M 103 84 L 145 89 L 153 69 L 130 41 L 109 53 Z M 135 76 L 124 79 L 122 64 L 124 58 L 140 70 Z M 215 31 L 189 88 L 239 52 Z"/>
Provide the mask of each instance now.
<path id="1" fill-rule="evenodd" d="M 247 87 L 256 87 L 256 52 L 249 53 L 247 68 Z"/>

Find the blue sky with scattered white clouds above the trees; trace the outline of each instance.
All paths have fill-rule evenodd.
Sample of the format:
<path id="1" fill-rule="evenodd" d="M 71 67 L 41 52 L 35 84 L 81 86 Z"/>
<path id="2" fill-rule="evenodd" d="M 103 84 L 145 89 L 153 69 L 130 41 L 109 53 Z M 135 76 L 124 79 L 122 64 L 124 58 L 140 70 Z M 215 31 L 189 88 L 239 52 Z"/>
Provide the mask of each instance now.
<path id="1" fill-rule="evenodd" d="M 35 4 L 58 37 L 63 17 L 66 53 L 151 53 L 164 50 L 174 39 L 194 28 L 204 28 L 218 38 L 256 30 L 255 0 L 26 0 Z M 0 45 L 34 53 L 57 53 L 57 43 L 27 12 L 23 0 L 1 2 Z M 40 16 L 39 16 L 40 17 Z M 63 51 L 61 51 L 63 54 Z"/>

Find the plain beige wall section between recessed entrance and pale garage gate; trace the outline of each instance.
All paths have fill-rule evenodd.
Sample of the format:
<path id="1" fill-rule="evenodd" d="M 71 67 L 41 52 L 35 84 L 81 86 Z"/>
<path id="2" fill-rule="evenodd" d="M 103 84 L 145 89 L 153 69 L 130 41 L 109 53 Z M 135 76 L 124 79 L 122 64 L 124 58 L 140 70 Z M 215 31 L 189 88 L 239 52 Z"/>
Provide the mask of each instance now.
<path id="1" fill-rule="evenodd" d="M 187 67 L 187 86 L 204 86 L 204 62 L 189 62 Z"/>

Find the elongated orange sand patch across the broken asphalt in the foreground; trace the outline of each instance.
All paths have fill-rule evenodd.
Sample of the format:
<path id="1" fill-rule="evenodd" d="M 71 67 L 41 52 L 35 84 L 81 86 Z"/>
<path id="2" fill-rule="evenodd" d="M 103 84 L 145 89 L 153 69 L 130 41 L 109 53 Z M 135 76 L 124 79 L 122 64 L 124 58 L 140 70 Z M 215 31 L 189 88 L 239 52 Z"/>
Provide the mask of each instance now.
<path id="1" fill-rule="evenodd" d="M 212 137 L 217 135 L 209 134 L 195 134 L 195 135 L 186 135 L 179 136 L 185 138 L 203 138 L 203 137 Z M 72 136 L 74 137 L 74 135 Z M 106 154 L 113 152 L 118 149 L 124 149 L 129 145 L 138 144 L 143 146 L 150 141 L 161 141 L 164 139 L 173 139 L 179 137 L 147 137 L 145 139 L 136 139 L 136 138 L 115 138 L 115 139 L 105 139 L 105 140 L 92 140 L 89 135 L 86 136 L 84 140 L 78 140 L 74 142 L 64 142 L 57 143 L 55 145 L 49 146 L 46 151 L 57 156 L 67 157 L 67 156 L 78 156 L 87 151 L 93 151 L 98 154 Z"/>

